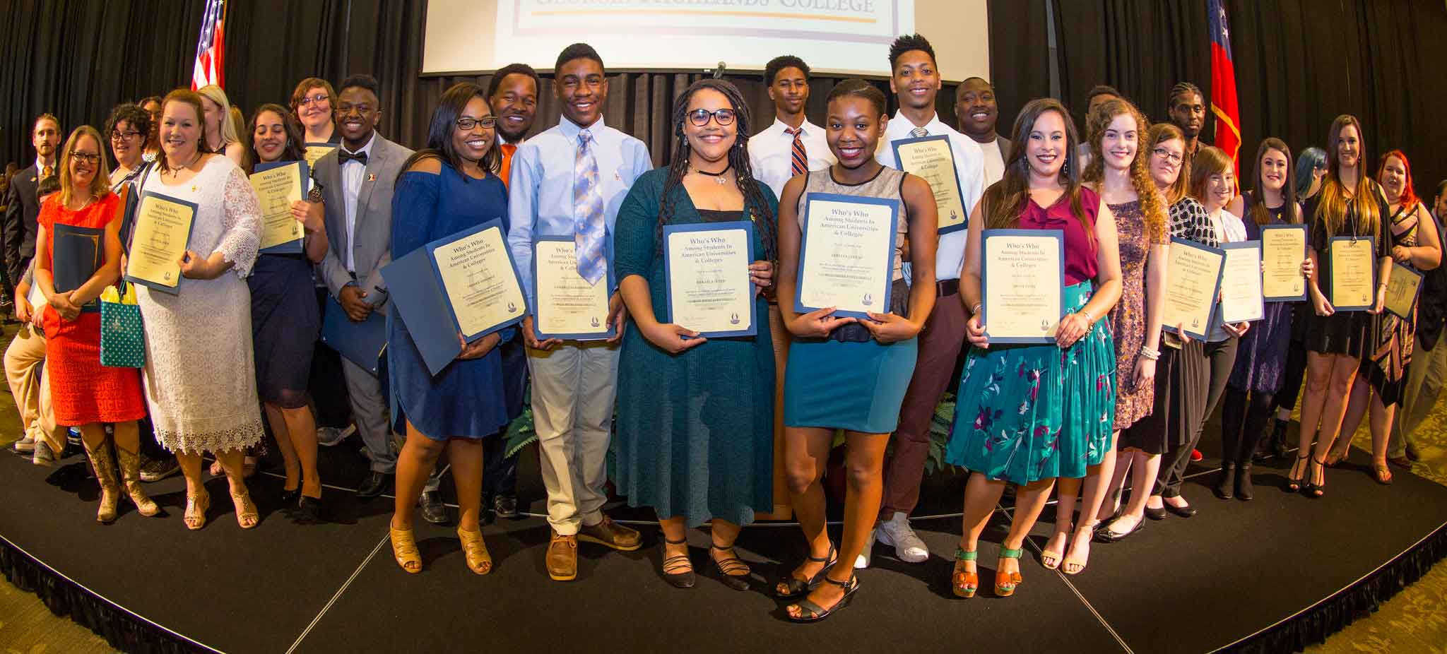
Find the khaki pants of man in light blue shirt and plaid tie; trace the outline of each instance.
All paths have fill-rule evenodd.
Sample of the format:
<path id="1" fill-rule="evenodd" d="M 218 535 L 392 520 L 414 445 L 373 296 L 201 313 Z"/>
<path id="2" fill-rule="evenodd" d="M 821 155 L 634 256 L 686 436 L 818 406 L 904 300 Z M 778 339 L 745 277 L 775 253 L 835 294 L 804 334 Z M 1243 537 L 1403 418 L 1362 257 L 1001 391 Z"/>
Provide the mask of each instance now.
<path id="1" fill-rule="evenodd" d="M 608 438 L 618 395 L 618 344 L 528 350 L 547 521 L 561 535 L 602 519 Z"/>

